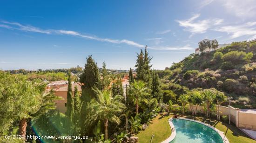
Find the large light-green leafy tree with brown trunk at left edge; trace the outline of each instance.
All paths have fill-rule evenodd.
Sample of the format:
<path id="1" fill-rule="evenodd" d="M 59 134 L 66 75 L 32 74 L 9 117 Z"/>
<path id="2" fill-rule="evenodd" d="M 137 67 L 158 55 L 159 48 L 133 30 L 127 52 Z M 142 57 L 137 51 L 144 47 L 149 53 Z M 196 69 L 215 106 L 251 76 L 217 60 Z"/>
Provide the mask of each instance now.
<path id="1" fill-rule="evenodd" d="M 19 134 L 26 137 L 27 121 L 55 109 L 54 101 L 61 98 L 46 92 L 46 83 L 2 73 L 0 77 L 0 133 L 19 121 Z"/>

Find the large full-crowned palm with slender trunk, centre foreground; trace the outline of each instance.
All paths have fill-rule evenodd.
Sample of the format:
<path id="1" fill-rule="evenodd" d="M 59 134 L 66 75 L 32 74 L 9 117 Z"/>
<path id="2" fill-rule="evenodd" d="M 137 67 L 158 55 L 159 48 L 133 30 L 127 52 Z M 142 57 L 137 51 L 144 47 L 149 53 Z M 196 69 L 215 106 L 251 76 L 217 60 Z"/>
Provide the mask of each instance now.
<path id="1" fill-rule="evenodd" d="M 100 91 L 98 88 L 94 89 L 97 98 L 92 99 L 89 107 L 94 112 L 93 118 L 100 118 L 104 122 L 105 127 L 105 140 L 108 140 L 108 121 L 120 124 L 120 119 L 115 116 L 117 113 L 122 112 L 125 105 L 121 102 L 123 99 L 120 95 L 112 97 L 112 93 L 105 89 Z"/>

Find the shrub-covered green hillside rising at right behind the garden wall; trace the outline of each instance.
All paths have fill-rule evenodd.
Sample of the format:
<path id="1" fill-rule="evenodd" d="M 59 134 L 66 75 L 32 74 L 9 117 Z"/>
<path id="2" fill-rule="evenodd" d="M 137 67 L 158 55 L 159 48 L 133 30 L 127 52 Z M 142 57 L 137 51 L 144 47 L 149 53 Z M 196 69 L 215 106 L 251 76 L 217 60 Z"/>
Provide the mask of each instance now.
<path id="1" fill-rule="evenodd" d="M 171 96 L 216 88 L 234 98 L 233 106 L 256 108 L 256 43 L 234 42 L 216 51 L 191 54 L 158 75 L 162 89 L 174 92 Z"/>

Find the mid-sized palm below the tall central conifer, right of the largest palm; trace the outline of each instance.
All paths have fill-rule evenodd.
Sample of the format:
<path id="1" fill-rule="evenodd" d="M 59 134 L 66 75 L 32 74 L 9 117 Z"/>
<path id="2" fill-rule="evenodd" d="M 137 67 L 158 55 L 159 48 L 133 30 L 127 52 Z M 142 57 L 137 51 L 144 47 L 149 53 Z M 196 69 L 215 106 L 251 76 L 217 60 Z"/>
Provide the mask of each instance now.
<path id="1" fill-rule="evenodd" d="M 148 88 L 143 81 L 134 81 L 131 84 L 131 96 L 134 98 L 135 107 L 136 107 L 136 114 L 139 113 L 139 103 L 142 101 L 148 102 L 146 96 L 149 95 Z"/>

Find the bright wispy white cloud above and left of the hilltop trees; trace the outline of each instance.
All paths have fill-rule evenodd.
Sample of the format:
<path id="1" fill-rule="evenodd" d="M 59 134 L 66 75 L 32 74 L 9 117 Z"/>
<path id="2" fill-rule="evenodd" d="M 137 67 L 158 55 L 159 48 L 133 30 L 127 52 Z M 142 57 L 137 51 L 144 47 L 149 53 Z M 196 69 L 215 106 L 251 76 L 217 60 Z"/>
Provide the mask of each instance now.
<path id="1" fill-rule="evenodd" d="M 223 22 L 223 19 L 203 19 L 197 20 L 200 14 L 195 14 L 190 19 L 186 20 L 176 20 L 180 26 L 185 27 L 185 31 L 189 31 L 192 33 L 192 36 L 195 33 L 205 33 L 209 28 L 214 27 L 215 25 L 220 25 Z"/>

